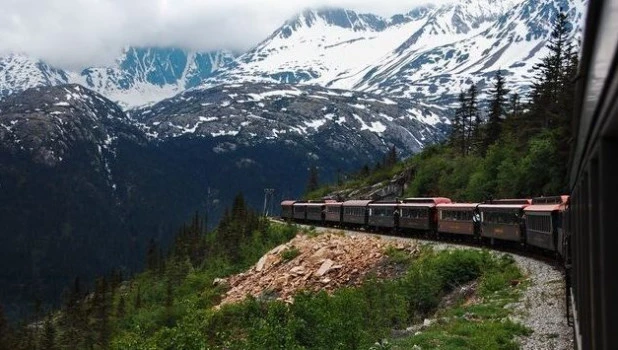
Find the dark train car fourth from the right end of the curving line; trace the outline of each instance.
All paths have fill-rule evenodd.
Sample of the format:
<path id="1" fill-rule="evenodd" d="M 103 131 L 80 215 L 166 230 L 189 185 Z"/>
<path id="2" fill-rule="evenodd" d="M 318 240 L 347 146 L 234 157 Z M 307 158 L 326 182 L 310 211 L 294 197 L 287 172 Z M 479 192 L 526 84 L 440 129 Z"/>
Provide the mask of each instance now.
<path id="1" fill-rule="evenodd" d="M 399 226 L 403 230 L 433 231 L 438 225 L 436 206 L 449 198 L 405 198 L 399 204 Z"/>

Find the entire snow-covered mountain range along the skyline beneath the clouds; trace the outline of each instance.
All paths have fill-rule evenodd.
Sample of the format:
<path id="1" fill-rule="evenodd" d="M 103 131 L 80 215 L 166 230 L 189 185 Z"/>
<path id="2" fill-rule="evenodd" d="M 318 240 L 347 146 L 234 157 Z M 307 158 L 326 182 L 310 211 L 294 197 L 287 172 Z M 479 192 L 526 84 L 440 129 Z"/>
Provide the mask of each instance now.
<path id="1" fill-rule="evenodd" d="M 109 67 L 65 72 L 19 55 L 0 58 L 0 95 L 79 83 L 124 108 L 199 85 L 287 83 L 371 92 L 448 105 L 462 88 L 481 92 L 497 70 L 525 92 L 556 14 L 583 23 L 586 0 L 463 0 L 382 18 L 344 9 L 305 10 L 253 49 L 187 52 L 128 48 Z M 483 94 L 481 93 L 481 98 Z"/>

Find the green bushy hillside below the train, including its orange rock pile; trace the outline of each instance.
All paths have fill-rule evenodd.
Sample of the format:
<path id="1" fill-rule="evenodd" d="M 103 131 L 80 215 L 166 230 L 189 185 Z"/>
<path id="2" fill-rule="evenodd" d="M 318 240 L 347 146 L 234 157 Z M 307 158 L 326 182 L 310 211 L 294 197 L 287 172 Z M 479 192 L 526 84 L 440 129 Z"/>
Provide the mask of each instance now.
<path id="1" fill-rule="evenodd" d="M 129 280 L 100 278 L 90 293 L 76 281 L 62 310 L 47 316 L 40 330 L 5 328 L 0 345 L 353 349 L 393 341 L 406 348 L 410 342 L 428 346 L 427 337 L 416 337 L 425 332 L 442 333 L 440 341 L 449 343 L 446 324 L 455 327 L 449 332 L 461 346 L 483 348 L 515 346 L 515 336 L 529 334 L 504 308 L 522 290 L 513 283 L 521 273 L 512 258 L 297 233 L 297 227 L 258 219 L 237 198 L 215 231 L 206 232 L 196 217 L 178 231 L 166 257 L 151 246 L 145 272 Z M 249 286 L 252 280 L 260 285 Z M 471 317 L 473 332 L 457 330 Z"/>

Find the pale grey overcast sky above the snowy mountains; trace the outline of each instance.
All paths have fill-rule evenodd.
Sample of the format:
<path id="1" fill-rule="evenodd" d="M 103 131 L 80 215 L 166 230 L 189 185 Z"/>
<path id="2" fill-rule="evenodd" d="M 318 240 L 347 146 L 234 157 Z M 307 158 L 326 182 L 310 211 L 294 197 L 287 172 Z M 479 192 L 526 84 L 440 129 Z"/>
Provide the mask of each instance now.
<path id="1" fill-rule="evenodd" d="M 128 45 L 244 51 L 304 8 L 343 7 L 388 17 L 428 2 L 0 0 L 0 55 L 26 53 L 62 68 L 79 69 L 110 63 Z"/>

